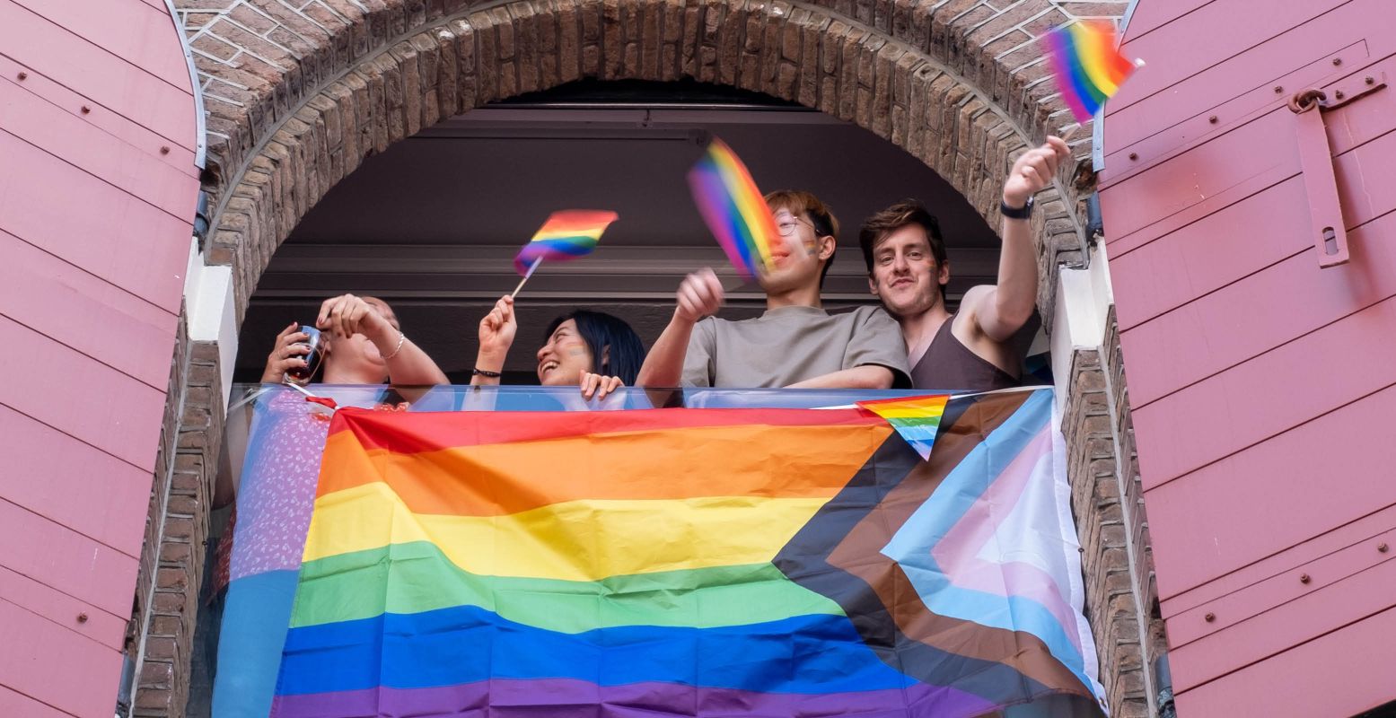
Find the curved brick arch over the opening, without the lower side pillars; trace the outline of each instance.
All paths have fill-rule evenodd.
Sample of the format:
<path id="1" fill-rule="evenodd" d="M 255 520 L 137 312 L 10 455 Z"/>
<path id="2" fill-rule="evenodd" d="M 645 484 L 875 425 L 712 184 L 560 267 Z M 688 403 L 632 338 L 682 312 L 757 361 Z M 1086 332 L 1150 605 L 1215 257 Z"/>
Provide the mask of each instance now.
<path id="1" fill-rule="evenodd" d="M 853 122 L 944 176 L 997 225 L 1016 151 L 1069 123 L 1022 0 L 179 0 L 208 109 L 207 260 L 235 267 L 239 323 L 271 254 L 374 152 L 491 101 L 574 80 L 729 85 Z M 211 8 L 212 6 L 212 8 Z M 1122 6 L 1121 6 L 1122 7 Z M 1101 11 L 1096 7 L 1093 11 Z M 1064 168 L 1062 180 L 1075 168 Z M 1041 268 L 1082 239 L 1069 183 L 1046 190 Z M 1053 282 L 1041 282 L 1051 303 Z M 1050 313 L 1047 313 L 1050 316 Z"/>

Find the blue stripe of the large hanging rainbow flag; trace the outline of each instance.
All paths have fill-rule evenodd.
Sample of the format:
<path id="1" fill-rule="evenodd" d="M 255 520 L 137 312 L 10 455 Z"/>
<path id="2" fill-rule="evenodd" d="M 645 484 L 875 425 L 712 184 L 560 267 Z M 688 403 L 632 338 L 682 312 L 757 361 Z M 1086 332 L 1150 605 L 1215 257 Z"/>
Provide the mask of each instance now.
<path id="1" fill-rule="evenodd" d="M 796 650 L 794 636 L 821 640 Z M 286 636 L 279 691 L 420 689 L 539 676 L 597 686 L 660 682 L 807 694 L 914 683 L 879 661 L 842 615 L 722 629 L 614 626 L 564 634 L 491 610 L 454 606 L 293 629 Z"/>

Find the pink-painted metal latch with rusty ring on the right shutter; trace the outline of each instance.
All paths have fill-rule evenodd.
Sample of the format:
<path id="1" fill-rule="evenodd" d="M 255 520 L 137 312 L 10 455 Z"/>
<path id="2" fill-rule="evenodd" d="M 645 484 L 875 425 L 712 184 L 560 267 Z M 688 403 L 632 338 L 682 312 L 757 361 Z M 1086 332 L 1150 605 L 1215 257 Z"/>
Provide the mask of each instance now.
<path id="1" fill-rule="evenodd" d="M 1295 138 L 1300 144 L 1300 168 L 1304 172 L 1304 191 L 1309 204 L 1309 226 L 1318 247 L 1318 265 L 1347 264 L 1347 228 L 1343 224 L 1343 204 L 1337 197 L 1337 177 L 1333 173 L 1333 151 L 1323 127 L 1323 110 L 1340 108 L 1354 99 L 1386 87 L 1385 74 L 1351 77 L 1329 92 L 1305 89 L 1290 98 L 1295 117 Z"/>

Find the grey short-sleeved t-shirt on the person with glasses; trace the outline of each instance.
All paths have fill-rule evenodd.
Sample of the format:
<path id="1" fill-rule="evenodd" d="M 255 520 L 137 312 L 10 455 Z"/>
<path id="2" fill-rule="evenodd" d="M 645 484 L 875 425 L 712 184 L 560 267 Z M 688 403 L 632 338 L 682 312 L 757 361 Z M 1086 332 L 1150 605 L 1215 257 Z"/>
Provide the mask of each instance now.
<path id="1" fill-rule="evenodd" d="M 694 327 L 684 356 L 685 387 L 786 387 L 854 366 L 892 370 L 893 387 L 910 387 L 902 330 L 882 307 L 842 314 L 780 307 L 757 318 L 708 317 Z"/>

